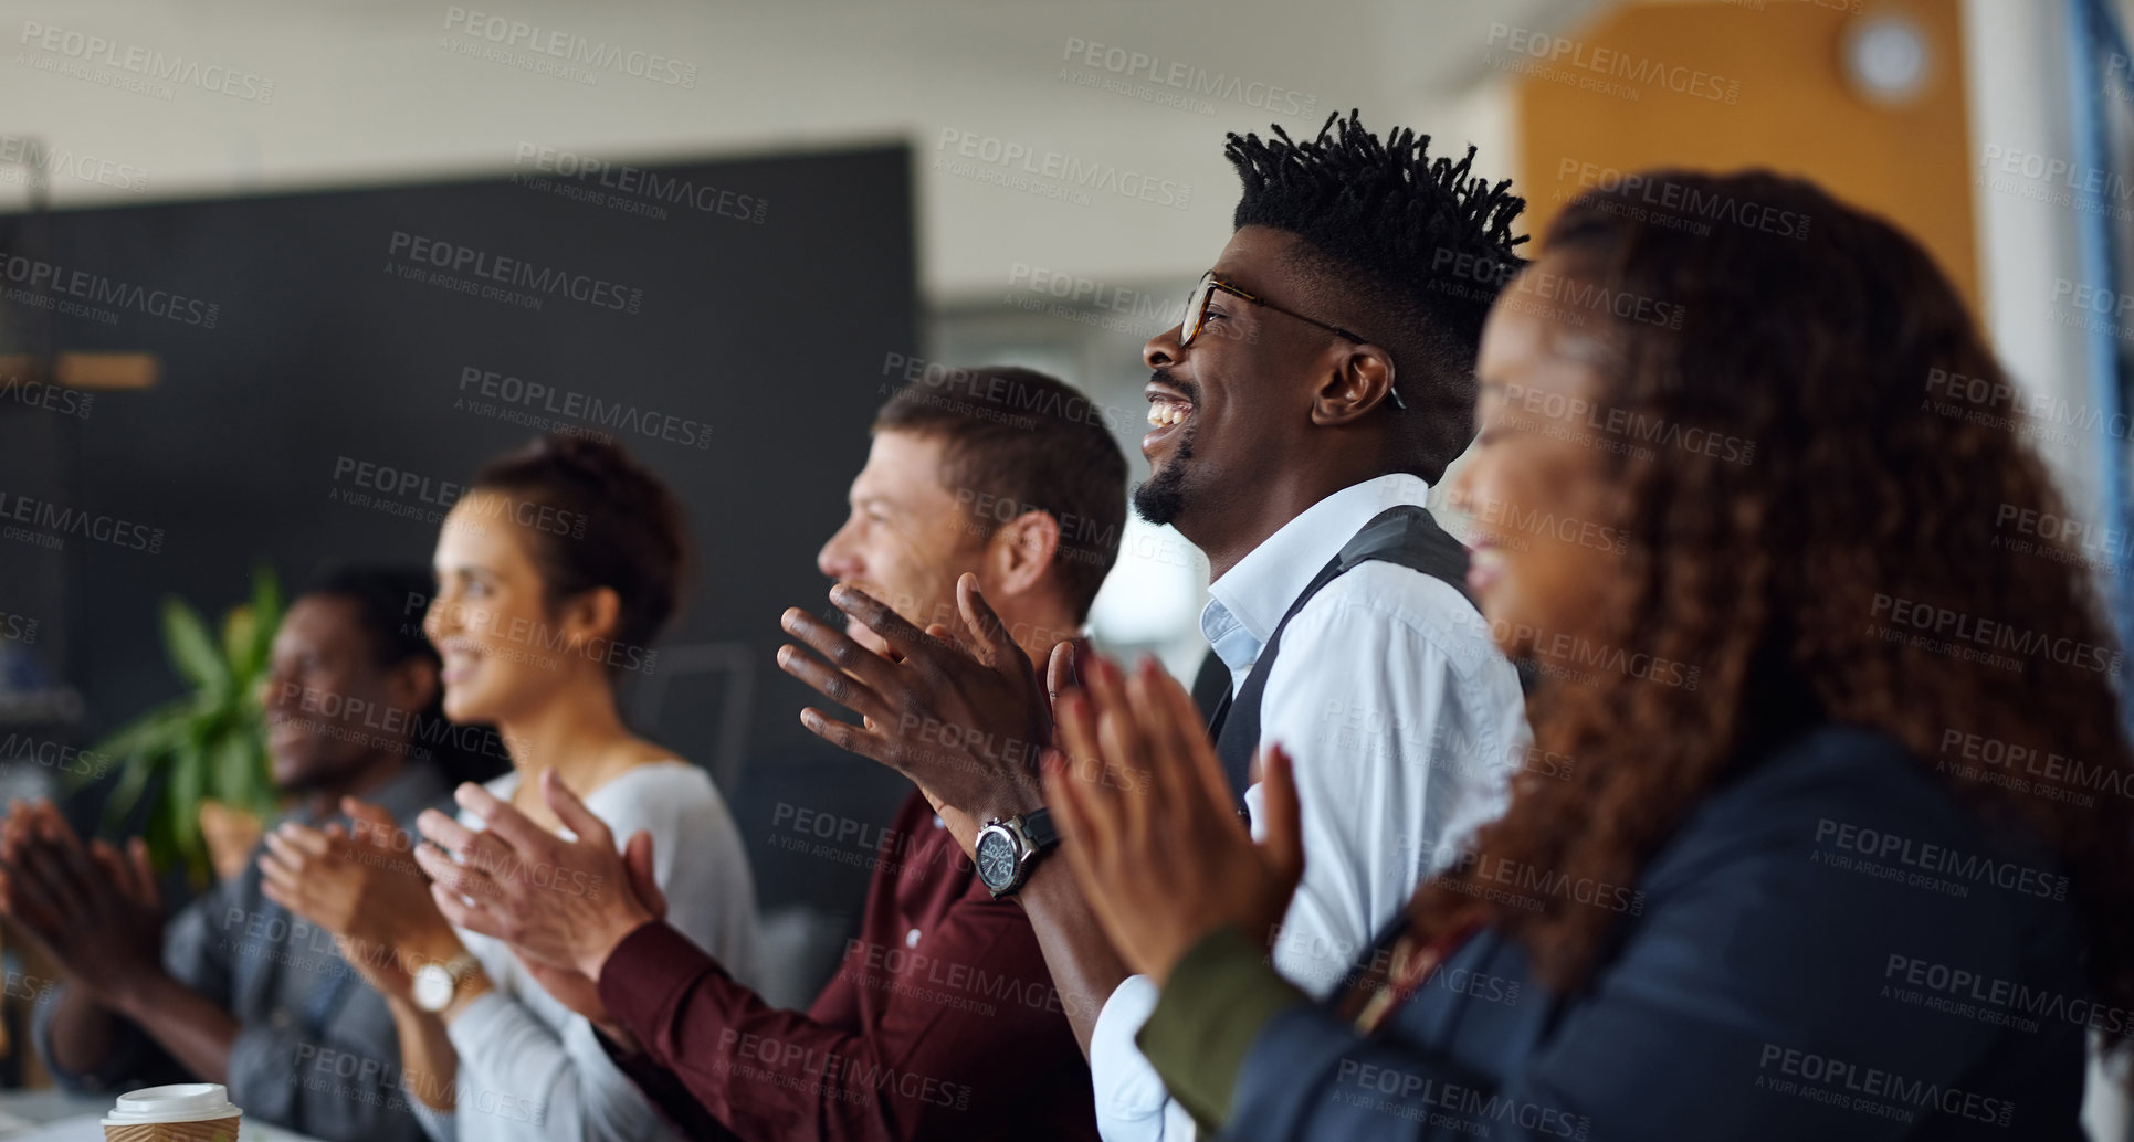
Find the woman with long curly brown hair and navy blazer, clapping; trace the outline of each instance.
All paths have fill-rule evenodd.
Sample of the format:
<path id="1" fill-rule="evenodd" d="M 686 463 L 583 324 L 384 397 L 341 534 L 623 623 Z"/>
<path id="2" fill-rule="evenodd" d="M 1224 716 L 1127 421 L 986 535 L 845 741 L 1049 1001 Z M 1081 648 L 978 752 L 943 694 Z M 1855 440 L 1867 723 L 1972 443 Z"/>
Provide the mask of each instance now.
<path id="1" fill-rule="evenodd" d="M 1265 967 L 1280 749 L 1255 845 L 1176 683 L 1063 698 L 1172 1093 L 1231 1138 L 2081 1138 L 2134 1008 L 2123 662 L 1948 280 L 1805 181 L 1662 171 L 1554 222 L 1477 374 L 1468 585 L 1547 764 L 1336 999 Z"/>

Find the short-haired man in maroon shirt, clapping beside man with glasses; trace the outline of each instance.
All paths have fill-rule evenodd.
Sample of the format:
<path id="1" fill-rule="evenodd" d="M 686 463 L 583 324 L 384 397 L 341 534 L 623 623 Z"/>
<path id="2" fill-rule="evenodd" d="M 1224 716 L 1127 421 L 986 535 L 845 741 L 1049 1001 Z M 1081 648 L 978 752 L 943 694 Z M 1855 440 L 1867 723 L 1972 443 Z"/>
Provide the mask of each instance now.
<path id="1" fill-rule="evenodd" d="M 911 623 L 965 640 L 954 591 L 971 572 L 1016 645 L 1044 662 L 1076 638 L 1118 557 L 1127 463 L 1103 412 L 1029 369 L 911 378 L 875 418 L 851 514 L 817 566 Z M 858 621 L 847 632 L 886 649 Z M 941 726 L 937 736 L 960 745 L 954 734 Z M 655 920 L 664 901 L 647 835 L 617 854 L 606 826 L 553 775 L 542 788 L 576 841 L 480 786 L 459 798 L 487 832 L 425 828 L 463 860 L 457 879 L 437 884 L 440 905 L 452 922 L 510 941 L 691 1133 L 1097 1138 L 1088 1065 L 1063 1012 L 1086 999 L 1052 986 L 1029 918 L 986 890 L 920 792 L 877 850 L 858 939 L 800 1014 L 770 1008 Z"/>

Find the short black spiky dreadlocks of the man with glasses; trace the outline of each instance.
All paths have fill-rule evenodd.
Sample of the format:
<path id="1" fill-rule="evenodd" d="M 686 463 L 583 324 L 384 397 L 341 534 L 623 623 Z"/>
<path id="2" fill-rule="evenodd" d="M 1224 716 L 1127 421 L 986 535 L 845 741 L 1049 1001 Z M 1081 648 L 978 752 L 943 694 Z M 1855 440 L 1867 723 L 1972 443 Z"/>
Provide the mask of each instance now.
<path id="1" fill-rule="evenodd" d="M 1394 354 L 1406 472 L 1436 482 L 1472 435 L 1475 346 L 1498 290 L 1526 263 L 1511 220 L 1526 199 L 1511 179 L 1470 175 L 1466 158 L 1430 158 L 1430 137 L 1394 128 L 1381 143 L 1355 111 L 1327 115 L 1297 143 L 1231 134 L 1223 149 L 1244 196 L 1233 226 L 1304 239 L 1302 269 L 1325 301 L 1361 305 L 1353 324 Z"/>

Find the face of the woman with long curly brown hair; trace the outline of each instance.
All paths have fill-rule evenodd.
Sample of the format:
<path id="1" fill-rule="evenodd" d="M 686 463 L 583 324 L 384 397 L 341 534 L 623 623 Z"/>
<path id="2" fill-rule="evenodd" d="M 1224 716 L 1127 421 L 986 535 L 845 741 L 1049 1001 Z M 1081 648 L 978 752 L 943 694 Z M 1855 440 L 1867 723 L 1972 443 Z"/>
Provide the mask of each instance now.
<path id="1" fill-rule="evenodd" d="M 1554 258 L 1528 269 L 1483 327 L 1477 438 L 1451 487 L 1472 517 L 1468 591 L 1509 655 L 1590 634 L 1622 574 L 1603 433 L 1588 423 L 1594 342 L 1532 297 L 1536 269 L 1564 271 Z"/>

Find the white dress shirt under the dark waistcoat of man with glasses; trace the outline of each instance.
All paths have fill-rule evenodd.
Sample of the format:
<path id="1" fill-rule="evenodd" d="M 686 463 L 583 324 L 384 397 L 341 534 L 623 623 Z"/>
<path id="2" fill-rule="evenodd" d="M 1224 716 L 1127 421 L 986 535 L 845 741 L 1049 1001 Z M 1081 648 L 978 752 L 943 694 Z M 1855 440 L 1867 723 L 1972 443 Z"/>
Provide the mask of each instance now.
<path id="1" fill-rule="evenodd" d="M 1233 696 L 1342 544 L 1428 493 L 1404 474 L 1342 489 L 1208 585 L 1201 632 L 1229 666 Z M 1259 743 L 1289 754 L 1304 826 L 1304 882 L 1274 941 L 1276 971 L 1325 999 L 1421 879 L 1504 811 L 1530 741 L 1519 677 L 1455 587 L 1372 559 L 1312 596 L 1283 630 L 1259 707 Z M 1261 788 L 1244 800 L 1263 839 Z M 1105 1142 L 1193 1138 L 1191 1116 L 1133 1042 L 1154 1005 L 1157 986 L 1133 976 L 1097 1016 L 1088 1061 Z"/>

